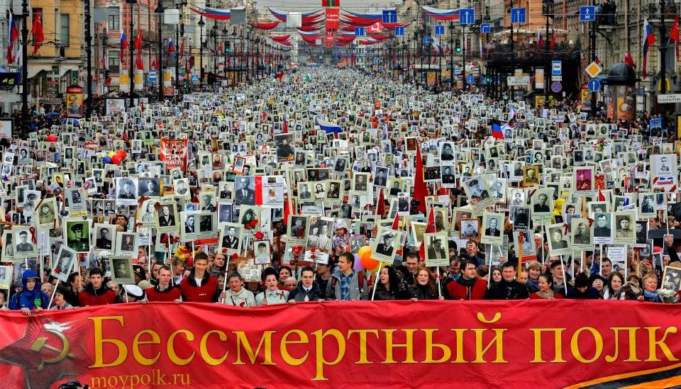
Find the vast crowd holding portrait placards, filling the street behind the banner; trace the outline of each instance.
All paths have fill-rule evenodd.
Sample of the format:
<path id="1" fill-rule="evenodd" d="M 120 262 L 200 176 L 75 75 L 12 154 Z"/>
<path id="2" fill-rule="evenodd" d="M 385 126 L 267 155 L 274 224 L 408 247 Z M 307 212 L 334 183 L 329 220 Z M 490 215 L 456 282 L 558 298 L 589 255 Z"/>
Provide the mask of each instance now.
<path id="1" fill-rule="evenodd" d="M 4 311 L 678 299 L 667 120 L 335 69 L 77 123 L 35 113 L 3 144 Z"/>

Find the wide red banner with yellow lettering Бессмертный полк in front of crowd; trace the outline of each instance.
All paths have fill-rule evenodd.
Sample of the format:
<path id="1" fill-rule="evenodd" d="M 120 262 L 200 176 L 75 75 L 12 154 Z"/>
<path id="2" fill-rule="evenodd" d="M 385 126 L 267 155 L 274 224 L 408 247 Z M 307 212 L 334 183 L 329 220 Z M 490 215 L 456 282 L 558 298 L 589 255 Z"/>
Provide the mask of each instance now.
<path id="1" fill-rule="evenodd" d="M 6 388 L 670 387 L 681 385 L 678 312 L 637 301 L 135 303 L 2 313 L 0 359 Z"/>

